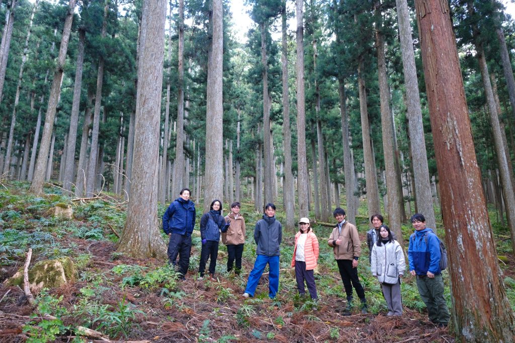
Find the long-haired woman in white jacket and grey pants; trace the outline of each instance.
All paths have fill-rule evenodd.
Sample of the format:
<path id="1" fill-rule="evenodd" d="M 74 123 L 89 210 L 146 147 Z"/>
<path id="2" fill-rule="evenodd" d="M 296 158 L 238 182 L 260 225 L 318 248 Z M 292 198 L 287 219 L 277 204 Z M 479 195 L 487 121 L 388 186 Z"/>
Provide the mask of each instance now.
<path id="1" fill-rule="evenodd" d="M 393 239 L 390 228 L 381 225 L 380 238 L 372 247 L 370 270 L 381 284 L 388 305 L 387 316 L 402 315 L 401 278 L 406 269 L 402 247 Z"/>

